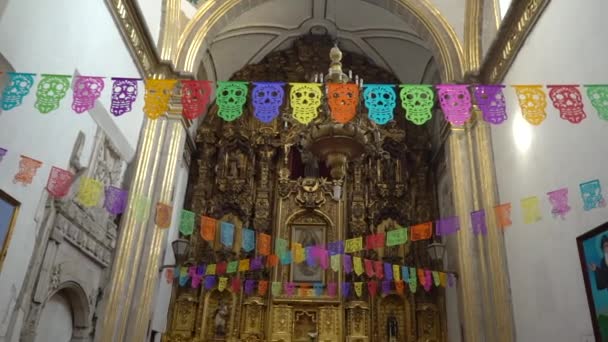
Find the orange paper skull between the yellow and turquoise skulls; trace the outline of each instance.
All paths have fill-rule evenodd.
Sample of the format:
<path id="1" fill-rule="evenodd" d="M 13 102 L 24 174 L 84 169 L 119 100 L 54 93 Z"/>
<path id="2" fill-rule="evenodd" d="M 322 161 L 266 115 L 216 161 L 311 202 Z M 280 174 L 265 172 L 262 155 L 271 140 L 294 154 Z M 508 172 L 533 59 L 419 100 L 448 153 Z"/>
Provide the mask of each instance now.
<path id="1" fill-rule="evenodd" d="M 339 123 L 347 123 L 357 113 L 359 86 L 357 84 L 329 84 L 329 108 L 332 118 Z"/>

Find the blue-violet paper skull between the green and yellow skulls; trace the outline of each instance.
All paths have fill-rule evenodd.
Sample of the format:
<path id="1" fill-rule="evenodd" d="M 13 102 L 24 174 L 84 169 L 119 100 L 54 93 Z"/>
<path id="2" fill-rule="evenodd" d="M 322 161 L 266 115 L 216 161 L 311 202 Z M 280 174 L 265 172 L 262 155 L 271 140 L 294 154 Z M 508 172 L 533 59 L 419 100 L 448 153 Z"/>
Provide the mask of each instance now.
<path id="1" fill-rule="evenodd" d="M 284 83 L 254 83 L 251 102 L 255 109 L 255 116 L 264 123 L 270 123 L 279 115 L 283 104 L 285 91 Z"/>

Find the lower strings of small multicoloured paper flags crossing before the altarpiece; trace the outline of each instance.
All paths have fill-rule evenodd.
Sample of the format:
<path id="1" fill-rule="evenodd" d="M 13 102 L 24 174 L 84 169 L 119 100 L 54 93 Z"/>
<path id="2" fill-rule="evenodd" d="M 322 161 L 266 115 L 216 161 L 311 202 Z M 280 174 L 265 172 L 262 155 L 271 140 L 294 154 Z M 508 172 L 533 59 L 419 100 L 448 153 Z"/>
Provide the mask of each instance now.
<path id="1" fill-rule="evenodd" d="M 7 153 L 6 149 L 0 149 L 0 162 L 2 157 Z M 23 185 L 31 184 L 37 170 L 43 165 L 42 162 L 21 156 L 19 162 L 19 171 L 15 174 L 13 181 Z M 66 196 L 72 186 L 74 175 L 58 167 L 52 167 L 47 180 L 46 189 L 49 194 L 55 198 Z M 602 188 L 598 179 L 581 183 L 579 185 L 582 199 L 582 207 L 585 211 L 606 206 L 606 201 L 602 194 Z M 548 201 L 550 202 L 551 214 L 554 217 L 564 219 L 571 211 L 568 188 L 560 188 L 547 193 Z M 103 205 L 108 212 L 114 215 L 122 213 L 127 202 L 127 191 L 115 187 L 105 187 L 102 182 L 93 178 L 83 177 L 79 183 L 79 189 L 76 193 L 76 198 L 79 203 L 85 207 L 96 206 L 104 197 Z M 152 212 L 151 200 L 145 196 L 134 196 L 135 220 L 145 222 L 148 220 Z M 486 211 L 485 209 L 476 210 L 470 213 L 471 229 L 476 235 L 487 234 L 488 227 L 486 225 L 486 215 L 495 215 L 497 226 L 506 228 L 511 223 L 511 203 L 503 203 Z M 540 198 L 531 196 L 521 199 L 520 205 L 522 208 L 522 217 L 525 224 L 531 224 L 542 219 L 540 210 Z M 171 217 L 173 207 L 157 203 L 155 211 L 155 223 L 159 228 L 168 228 L 171 225 Z M 179 231 L 182 235 L 189 236 L 194 232 L 196 222 L 196 214 L 192 211 L 182 210 Z M 219 227 L 220 243 L 226 247 L 232 247 L 235 241 L 235 226 L 229 222 L 217 221 L 216 219 L 201 216 L 200 217 L 200 234 L 206 241 L 215 241 L 216 230 Z M 323 269 L 331 268 L 338 272 L 340 269 L 344 272 L 356 275 L 366 274 L 372 280 L 372 285 L 367 283 L 367 291 L 370 295 L 375 295 L 377 286 L 380 284 L 383 291 L 395 288 L 396 291 L 402 291 L 404 282 L 409 284 L 410 291 L 415 291 L 416 281 L 420 282 L 425 290 L 429 291 L 432 284 L 441 286 L 446 284 L 445 279 L 450 279 L 454 275 L 449 272 L 433 271 L 424 268 L 410 267 L 406 265 L 396 265 L 384 263 L 375 260 L 361 258 L 353 253 L 365 249 L 378 249 L 384 247 L 398 246 L 406 243 L 408 238 L 410 241 L 428 240 L 432 238 L 433 231 L 437 236 L 446 236 L 459 232 L 460 219 L 457 216 L 441 218 L 436 221 L 424 222 L 410 227 L 400 227 L 386 233 L 374 233 L 367 236 L 357 236 L 343 241 L 329 242 L 327 246 L 307 246 L 303 247 L 299 244 L 292 244 L 291 249 L 288 249 L 288 241 L 285 239 L 275 239 L 275 252 L 272 253 L 272 237 L 264 233 L 256 233 L 252 229 L 242 229 L 242 245 L 241 248 L 246 252 L 251 252 L 257 249 L 257 257 L 249 259 L 241 259 L 236 261 L 222 261 L 215 264 L 197 265 L 184 269 L 185 266 L 179 266 L 177 270 L 168 269 L 167 273 L 172 273 L 173 276 L 180 278 L 180 284 L 187 284 L 190 280 L 190 286 L 199 286 L 201 281 L 205 281 L 205 286 L 217 286 L 226 283 L 230 279 L 229 275 L 233 274 L 236 267 L 236 272 L 254 271 L 264 269 L 265 267 L 276 267 L 278 265 L 288 265 L 292 263 L 306 262 L 310 267 L 321 267 Z M 167 275 L 168 279 L 170 278 Z M 200 279 L 198 279 L 200 278 Z M 445 278 L 445 279 L 444 279 Z M 171 277 L 172 279 L 172 277 Z M 198 279 L 198 280 L 197 280 Z M 209 280 L 207 280 L 209 279 Z M 235 280 L 236 279 L 236 280 Z M 417 279 L 417 280 L 416 280 Z M 442 280 L 443 279 L 443 280 Z M 379 283 L 380 281 L 380 283 Z M 232 278 L 232 288 L 235 288 L 236 282 L 239 285 L 242 283 L 246 288 L 249 286 L 260 287 L 268 286 L 263 283 L 263 280 L 252 280 L 240 278 Z M 388 282 L 388 283 L 387 283 Z M 412 282 L 414 284 L 412 284 Z M 197 285 L 197 283 L 199 285 Z M 246 283 L 246 284 L 245 284 Z M 450 283 L 450 281 L 447 281 Z M 452 281 L 453 283 L 453 281 Z M 253 284 L 253 285 L 252 285 Z M 279 285 L 270 284 L 273 293 L 284 293 L 290 295 L 296 288 L 301 286 L 294 283 L 278 283 Z M 348 289 L 354 287 L 355 293 L 361 293 L 362 282 L 344 282 L 341 284 L 342 292 L 348 293 Z M 388 285 L 387 285 L 388 284 Z M 439 285 L 437 285 L 439 284 Z M 448 284 L 449 285 L 449 284 Z M 185 285 L 182 285 L 185 286 Z M 315 285 L 315 294 L 324 289 L 331 296 L 333 293 L 330 284 L 326 287 L 323 284 Z M 331 286 L 337 286 L 331 285 Z M 370 287 L 371 286 L 371 287 Z M 429 287 L 429 289 L 427 289 Z M 281 292 L 282 291 L 282 292 Z M 325 293 L 325 292 L 323 292 Z"/>

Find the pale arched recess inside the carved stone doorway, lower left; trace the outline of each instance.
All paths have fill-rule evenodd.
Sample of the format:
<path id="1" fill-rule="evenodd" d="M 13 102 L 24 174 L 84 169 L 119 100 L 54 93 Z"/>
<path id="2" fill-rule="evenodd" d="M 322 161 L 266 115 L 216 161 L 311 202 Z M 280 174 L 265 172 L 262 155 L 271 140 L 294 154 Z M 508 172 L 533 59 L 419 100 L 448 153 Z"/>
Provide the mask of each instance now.
<path id="1" fill-rule="evenodd" d="M 44 305 L 35 342 L 70 342 L 73 331 L 72 306 L 58 293 Z"/>

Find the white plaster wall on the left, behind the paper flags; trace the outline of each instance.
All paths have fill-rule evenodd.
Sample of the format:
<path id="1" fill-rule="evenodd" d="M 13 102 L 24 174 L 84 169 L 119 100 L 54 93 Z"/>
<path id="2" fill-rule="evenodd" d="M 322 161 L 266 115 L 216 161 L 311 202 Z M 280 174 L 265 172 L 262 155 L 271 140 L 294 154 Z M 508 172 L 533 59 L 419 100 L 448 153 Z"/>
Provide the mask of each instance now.
<path id="1" fill-rule="evenodd" d="M 25 29 L 27 28 L 27 29 Z M 134 110 L 121 117 L 107 114 L 112 76 L 139 77 L 112 16 L 103 1 L 13 0 L 0 19 L 0 54 L 16 71 L 72 75 L 106 76 L 106 89 L 96 107 L 96 115 L 105 115 L 128 146 L 136 149 L 143 114 L 142 96 Z M 51 166 L 68 167 L 68 160 L 79 131 L 86 135 L 82 163 L 88 164 L 97 123 L 89 113 L 76 114 L 71 108 L 71 91 L 61 108 L 42 115 L 34 108 L 35 87 L 22 106 L 0 113 L 0 147 L 9 150 L 0 162 L 0 189 L 21 202 L 21 209 L 0 272 L 0 341 L 4 341 L 16 296 L 22 286 L 30 261 L 38 207 L 46 194 Z M 101 114 L 99 114 L 101 112 Z M 12 183 L 18 171 L 19 155 L 44 162 L 33 184 L 24 187 Z M 17 322 L 19 325 L 20 322 Z"/>

